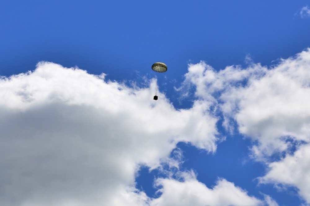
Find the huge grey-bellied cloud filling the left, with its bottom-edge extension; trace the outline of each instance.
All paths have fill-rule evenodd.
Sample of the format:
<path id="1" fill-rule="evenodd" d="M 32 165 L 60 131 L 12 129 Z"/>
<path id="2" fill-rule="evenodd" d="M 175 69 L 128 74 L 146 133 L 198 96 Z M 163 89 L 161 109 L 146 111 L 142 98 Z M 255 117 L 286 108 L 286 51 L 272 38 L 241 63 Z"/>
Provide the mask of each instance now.
<path id="1" fill-rule="evenodd" d="M 210 101 L 180 110 L 160 92 L 154 101 L 154 79 L 138 88 L 104 77 L 40 62 L 34 71 L 0 79 L 1 205 L 168 205 L 176 184 L 259 203 L 225 180 L 210 190 L 194 177 L 182 183 L 158 179 L 163 192 L 158 200 L 137 190 L 139 165 L 177 166 L 168 157 L 180 141 L 215 152 L 218 118 L 209 112 Z M 209 197 L 210 204 L 237 204 L 228 196 Z M 187 198 L 192 201 L 191 194 Z"/>

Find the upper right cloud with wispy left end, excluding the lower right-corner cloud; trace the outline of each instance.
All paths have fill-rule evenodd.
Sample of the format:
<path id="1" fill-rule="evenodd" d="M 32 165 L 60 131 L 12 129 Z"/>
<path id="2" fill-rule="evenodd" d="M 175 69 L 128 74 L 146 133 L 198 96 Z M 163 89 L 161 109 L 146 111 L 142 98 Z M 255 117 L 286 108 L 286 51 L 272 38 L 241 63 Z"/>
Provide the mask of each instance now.
<path id="1" fill-rule="evenodd" d="M 310 140 L 309 65 L 309 49 L 269 70 L 251 64 L 216 72 L 200 62 L 189 65 L 184 84 L 195 85 L 197 97 L 219 104 L 226 128 L 232 118 L 240 133 L 257 140 L 257 157 L 269 156 L 286 151 L 287 139 Z"/>

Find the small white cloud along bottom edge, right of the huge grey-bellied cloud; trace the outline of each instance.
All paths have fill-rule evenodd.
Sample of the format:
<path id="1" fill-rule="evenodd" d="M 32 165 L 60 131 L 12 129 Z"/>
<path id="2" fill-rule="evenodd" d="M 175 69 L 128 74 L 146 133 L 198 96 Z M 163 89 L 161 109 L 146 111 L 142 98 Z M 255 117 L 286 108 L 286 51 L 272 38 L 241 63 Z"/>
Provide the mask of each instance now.
<path id="1" fill-rule="evenodd" d="M 162 186 L 163 193 L 153 200 L 151 206 L 254 206 L 263 205 L 261 200 L 247 195 L 247 192 L 236 187 L 232 182 L 219 179 L 212 188 L 198 182 L 193 172 L 182 173 L 184 181 L 175 179 L 157 179 L 157 186 Z"/>

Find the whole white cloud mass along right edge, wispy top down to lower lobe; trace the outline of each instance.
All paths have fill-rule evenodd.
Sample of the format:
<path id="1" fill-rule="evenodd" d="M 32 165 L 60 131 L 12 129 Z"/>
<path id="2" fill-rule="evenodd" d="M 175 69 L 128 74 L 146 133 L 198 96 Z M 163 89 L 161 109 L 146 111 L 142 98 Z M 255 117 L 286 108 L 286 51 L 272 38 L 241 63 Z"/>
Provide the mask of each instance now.
<path id="1" fill-rule="evenodd" d="M 310 204 L 309 68 L 310 49 L 270 68 L 251 63 L 215 71 L 200 62 L 189 65 L 183 88 L 194 85 L 198 99 L 218 105 L 228 130 L 235 122 L 253 140 L 252 156 L 270 168 L 261 183 L 297 187 Z M 274 154 L 281 154 L 280 161 L 272 162 Z"/>

